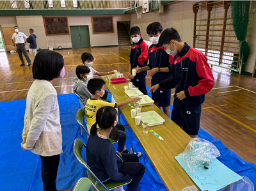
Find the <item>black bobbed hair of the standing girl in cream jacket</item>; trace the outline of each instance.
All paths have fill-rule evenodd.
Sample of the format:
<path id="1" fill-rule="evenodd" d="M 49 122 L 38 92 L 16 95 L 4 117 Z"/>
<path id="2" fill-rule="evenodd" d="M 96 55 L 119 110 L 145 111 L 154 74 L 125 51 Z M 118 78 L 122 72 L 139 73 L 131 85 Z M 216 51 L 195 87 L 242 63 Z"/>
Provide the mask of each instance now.
<path id="1" fill-rule="evenodd" d="M 61 54 L 44 50 L 36 54 L 32 66 L 33 78 L 38 80 L 52 80 L 60 76 L 64 65 Z"/>

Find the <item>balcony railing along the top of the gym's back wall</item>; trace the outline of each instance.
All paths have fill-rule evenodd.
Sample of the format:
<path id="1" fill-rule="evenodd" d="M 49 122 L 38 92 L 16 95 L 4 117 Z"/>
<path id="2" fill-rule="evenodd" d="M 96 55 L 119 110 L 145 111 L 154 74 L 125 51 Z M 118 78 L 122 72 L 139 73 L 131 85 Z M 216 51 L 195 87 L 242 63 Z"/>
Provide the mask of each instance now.
<path id="1" fill-rule="evenodd" d="M 1 0 L 0 10 L 127 9 L 128 3 L 127 0 Z"/>

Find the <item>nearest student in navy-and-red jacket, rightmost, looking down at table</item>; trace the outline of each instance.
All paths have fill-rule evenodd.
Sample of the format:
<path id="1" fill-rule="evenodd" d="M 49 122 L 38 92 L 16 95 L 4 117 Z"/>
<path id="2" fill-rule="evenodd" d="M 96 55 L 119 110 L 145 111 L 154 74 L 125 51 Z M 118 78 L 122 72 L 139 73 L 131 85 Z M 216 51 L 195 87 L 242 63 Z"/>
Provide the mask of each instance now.
<path id="1" fill-rule="evenodd" d="M 197 137 L 200 127 L 201 104 L 205 93 L 214 86 L 207 57 L 187 43 L 182 42 L 177 30 L 168 28 L 159 38 L 159 45 L 173 57 L 172 78 L 150 88 L 175 88 L 172 120 L 191 137 Z"/>

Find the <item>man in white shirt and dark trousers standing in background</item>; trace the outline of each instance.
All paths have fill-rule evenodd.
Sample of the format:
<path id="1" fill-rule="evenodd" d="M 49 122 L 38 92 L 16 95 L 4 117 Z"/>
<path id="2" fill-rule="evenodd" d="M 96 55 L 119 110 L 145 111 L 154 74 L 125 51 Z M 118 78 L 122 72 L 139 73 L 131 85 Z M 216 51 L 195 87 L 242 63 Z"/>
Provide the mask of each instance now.
<path id="1" fill-rule="evenodd" d="M 13 47 L 15 47 L 15 43 L 16 43 L 17 52 L 19 54 L 20 61 L 21 61 L 20 66 L 25 66 L 24 59 L 22 57 L 22 53 L 26 57 L 26 60 L 28 61 L 28 65 L 31 66 L 31 60 L 30 60 L 27 50 L 25 48 L 26 42 L 24 41 L 24 38 L 27 39 L 28 36 L 26 36 L 26 34 L 24 34 L 24 33 L 19 32 L 19 27 L 15 26 L 13 28 L 14 28 L 15 33 L 12 34 L 12 43 L 13 43 Z M 13 41 L 14 38 L 15 38 L 15 43 Z"/>

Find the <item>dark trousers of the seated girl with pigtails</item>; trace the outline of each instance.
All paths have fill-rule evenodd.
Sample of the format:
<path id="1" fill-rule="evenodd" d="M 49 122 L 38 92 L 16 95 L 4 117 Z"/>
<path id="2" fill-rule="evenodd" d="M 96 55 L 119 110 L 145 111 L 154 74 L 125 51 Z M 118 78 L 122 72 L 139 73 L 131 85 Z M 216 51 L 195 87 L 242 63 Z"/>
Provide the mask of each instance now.
<path id="1" fill-rule="evenodd" d="M 124 163 L 118 166 L 118 171 L 123 174 L 132 174 L 131 183 L 127 185 L 126 191 L 136 191 L 140 185 L 140 180 L 144 175 L 145 166 L 139 162 L 139 158 L 134 154 L 121 153 L 124 158 Z M 108 180 L 105 183 L 111 183 L 114 180 Z"/>

